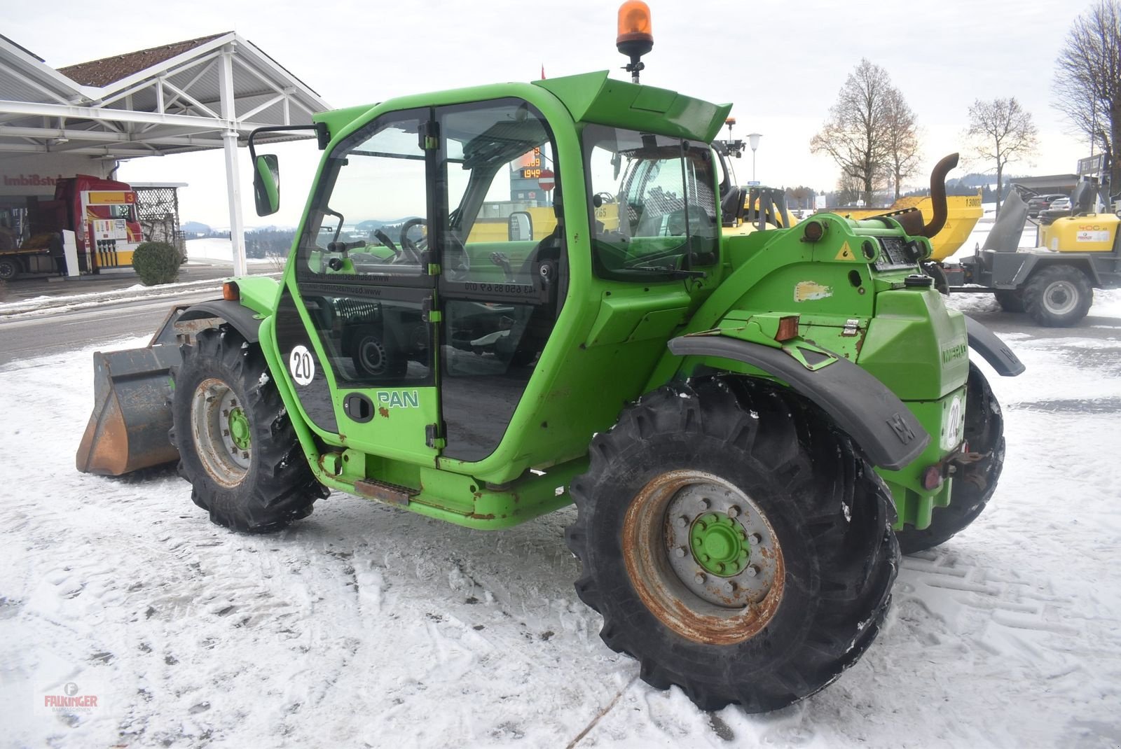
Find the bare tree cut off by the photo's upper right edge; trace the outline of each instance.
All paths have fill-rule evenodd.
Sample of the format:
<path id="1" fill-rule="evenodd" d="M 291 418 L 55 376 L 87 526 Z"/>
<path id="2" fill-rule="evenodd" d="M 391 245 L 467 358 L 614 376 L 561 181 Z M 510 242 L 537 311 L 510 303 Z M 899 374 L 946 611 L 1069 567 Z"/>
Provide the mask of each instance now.
<path id="1" fill-rule="evenodd" d="M 1056 60 L 1054 106 L 1109 158 L 1121 189 L 1121 0 L 1099 0 L 1075 19 Z"/>

